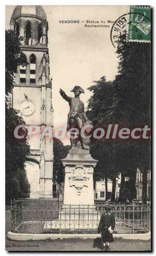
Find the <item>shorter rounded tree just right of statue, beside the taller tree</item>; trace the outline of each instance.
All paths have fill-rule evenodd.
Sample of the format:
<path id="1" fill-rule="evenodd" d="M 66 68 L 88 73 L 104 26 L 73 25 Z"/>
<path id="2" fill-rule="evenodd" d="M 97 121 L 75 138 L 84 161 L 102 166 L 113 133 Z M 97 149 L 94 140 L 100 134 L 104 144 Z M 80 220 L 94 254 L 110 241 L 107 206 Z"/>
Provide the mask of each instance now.
<path id="1" fill-rule="evenodd" d="M 105 76 L 99 81 L 94 81 L 94 85 L 88 88 L 93 95 L 89 99 L 87 116 L 93 122 L 94 129 L 100 127 L 107 131 L 107 125 L 113 121 L 113 106 L 116 105 L 114 84 L 106 81 Z M 93 130 L 94 130 L 93 129 Z M 91 138 L 91 154 L 98 160 L 94 171 L 94 180 L 105 178 L 106 200 L 107 200 L 107 180 L 113 181 L 112 201 L 115 200 L 116 177 L 119 175 L 120 166 L 118 164 L 116 151 L 119 143 L 105 140 L 105 138 L 94 140 Z"/>

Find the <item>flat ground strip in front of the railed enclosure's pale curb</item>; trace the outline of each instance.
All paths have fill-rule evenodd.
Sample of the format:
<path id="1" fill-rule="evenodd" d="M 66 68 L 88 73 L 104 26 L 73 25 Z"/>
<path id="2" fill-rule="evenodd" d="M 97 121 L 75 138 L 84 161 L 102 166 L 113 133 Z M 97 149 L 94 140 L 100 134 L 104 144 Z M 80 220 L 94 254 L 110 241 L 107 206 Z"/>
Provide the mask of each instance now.
<path id="1" fill-rule="evenodd" d="M 10 210 L 6 210 L 5 221 L 6 250 L 7 251 L 101 251 L 99 244 L 95 244 L 94 239 L 56 239 L 40 241 L 12 241 L 7 238 L 10 231 Z M 110 244 L 111 251 L 150 251 L 151 241 L 125 240 L 114 238 Z"/>

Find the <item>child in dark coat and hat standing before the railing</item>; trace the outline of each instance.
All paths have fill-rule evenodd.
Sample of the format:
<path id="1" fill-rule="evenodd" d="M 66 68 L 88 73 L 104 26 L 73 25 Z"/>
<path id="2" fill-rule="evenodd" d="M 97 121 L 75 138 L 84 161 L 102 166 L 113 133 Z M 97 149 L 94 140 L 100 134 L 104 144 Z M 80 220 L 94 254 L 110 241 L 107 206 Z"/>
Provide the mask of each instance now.
<path id="1" fill-rule="evenodd" d="M 115 228 L 115 217 L 111 212 L 112 206 L 105 205 L 105 213 L 101 215 L 97 233 L 101 233 L 101 239 L 104 244 L 104 251 L 109 251 L 109 243 L 113 242 L 113 230 Z"/>

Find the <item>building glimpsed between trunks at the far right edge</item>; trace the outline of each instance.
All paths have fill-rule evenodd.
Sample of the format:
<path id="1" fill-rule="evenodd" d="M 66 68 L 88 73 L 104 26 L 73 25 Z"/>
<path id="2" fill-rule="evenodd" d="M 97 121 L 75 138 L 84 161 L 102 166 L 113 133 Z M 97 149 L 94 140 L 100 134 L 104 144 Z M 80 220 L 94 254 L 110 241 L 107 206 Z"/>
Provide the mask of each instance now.
<path id="1" fill-rule="evenodd" d="M 136 172 L 136 200 L 142 201 L 143 174 L 137 168 Z M 151 201 L 151 170 L 147 172 L 147 201 Z"/>

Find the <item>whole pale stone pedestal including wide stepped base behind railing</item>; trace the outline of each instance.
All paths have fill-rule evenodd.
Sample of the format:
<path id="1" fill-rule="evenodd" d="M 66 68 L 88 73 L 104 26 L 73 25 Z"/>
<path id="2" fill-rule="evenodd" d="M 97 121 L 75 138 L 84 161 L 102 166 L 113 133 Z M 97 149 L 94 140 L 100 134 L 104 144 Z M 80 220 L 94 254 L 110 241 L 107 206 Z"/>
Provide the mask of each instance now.
<path id="1" fill-rule="evenodd" d="M 43 230 L 96 230 L 100 213 L 94 206 L 93 172 L 97 164 L 89 150 L 69 150 L 62 163 L 65 184 L 62 209 L 57 220 L 47 221 Z"/>

